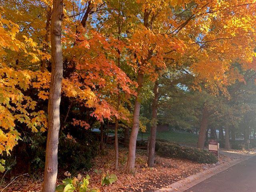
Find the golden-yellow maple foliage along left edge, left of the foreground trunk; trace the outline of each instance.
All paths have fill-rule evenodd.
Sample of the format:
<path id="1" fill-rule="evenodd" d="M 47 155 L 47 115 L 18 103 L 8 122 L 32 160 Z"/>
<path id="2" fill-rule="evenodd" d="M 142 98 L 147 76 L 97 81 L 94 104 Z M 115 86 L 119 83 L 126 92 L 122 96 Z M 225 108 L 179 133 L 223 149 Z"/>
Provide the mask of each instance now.
<path id="1" fill-rule="evenodd" d="M 33 132 L 45 131 L 47 127 L 44 111 L 35 110 L 36 101 L 24 94 L 31 85 L 36 74 L 29 70 L 15 70 L 9 66 L 5 56 L 7 52 L 24 52 L 28 56 L 27 61 L 39 60 L 38 54 L 28 52 L 27 48 L 34 47 L 36 43 L 31 38 L 23 36 L 24 42 L 16 38 L 19 26 L 0 15 L 0 76 L 1 76 L 1 130 L 0 130 L 0 154 L 10 154 L 12 148 L 18 143 L 20 133 L 16 130 L 16 122 L 26 124 Z M 40 52 L 39 52 L 40 54 Z M 30 58 L 30 55 L 33 58 Z M 4 170 L 1 161 L 1 172 Z"/>

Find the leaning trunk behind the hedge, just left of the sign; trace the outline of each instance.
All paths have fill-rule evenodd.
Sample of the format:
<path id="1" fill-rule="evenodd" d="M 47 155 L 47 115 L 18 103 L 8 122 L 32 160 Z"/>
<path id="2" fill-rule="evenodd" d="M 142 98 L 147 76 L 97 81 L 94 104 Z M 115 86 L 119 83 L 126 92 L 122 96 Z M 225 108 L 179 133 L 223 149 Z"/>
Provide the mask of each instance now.
<path id="1" fill-rule="evenodd" d="M 204 142 L 205 142 L 205 138 L 206 138 L 206 130 L 207 130 L 207 126 L 208 126 L 209 116 L 210 116 L 210 114 L 208 112 L 207 106 L 204 106 L 203 112 L 202 112 L 202 120 L 200 122 L 200 130 L 199 130 L 197 148 L 204 148 Z"/>

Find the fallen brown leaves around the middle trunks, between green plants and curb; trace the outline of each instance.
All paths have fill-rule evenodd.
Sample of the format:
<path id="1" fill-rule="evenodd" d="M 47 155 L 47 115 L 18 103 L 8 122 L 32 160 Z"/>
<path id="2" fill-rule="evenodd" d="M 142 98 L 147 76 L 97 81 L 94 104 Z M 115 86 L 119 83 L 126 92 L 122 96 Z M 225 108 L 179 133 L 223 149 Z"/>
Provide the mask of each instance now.
<path id="1" fill-rule="evenodd" d="M 89 172 L 82 173 L 83 176 L 89 174 L 90 186 L 99 188 L 101 192 L 151 192 L 202 170 L 202 164 L 159 156 L 156 156 L 156 166 L 149 168 L 146 163 L 146 151 L 137 150 L 136 173 L 134 175 L 126 174 L 124 173 L 126 162 L 123 163 L 124 165 L 119 164 L 118 171 L 114 170 L 114 150 L 108 150 L 108 155 L 98 156 L 94 160 L 95 165 Z M 127 149 L 121 148 L 119 152 L 120 160 L 123 160 L 126 157 Z M 102 173 L 96 174 L 94 169 L 101 170 L 102 173 L 107 171 L 111 174 L 114 173 L 118 177 L 118 181 L 110 186 L 102 187 L 100 186 Z"/>

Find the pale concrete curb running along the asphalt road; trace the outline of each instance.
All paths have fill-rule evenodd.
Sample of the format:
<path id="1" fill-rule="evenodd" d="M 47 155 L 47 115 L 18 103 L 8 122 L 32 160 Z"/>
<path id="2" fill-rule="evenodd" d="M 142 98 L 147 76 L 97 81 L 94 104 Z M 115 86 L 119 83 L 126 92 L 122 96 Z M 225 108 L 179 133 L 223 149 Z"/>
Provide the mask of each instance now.
<path id="1" fill-rule="evenodd" d="M 197 174 L 194 174 L 192 176 L 189 176 L 187 178 L 184 178 L 180 181 L 177 181 L 171 185 L 169 185 L 167 188 L 162 188 L 159 190 L 156 190 L 155 192 L 184 192 L 185 190 L 195 186 L 196 184 L 210 178 L 211 176 L 214 176 L 224 170 L 227 170 L 228 168 L 243 162 L 245 160 L 248 160 L 250 158 L 252 158 L 254 155 L 252 156 L 248 156 L 247 158 L 244 159 L 235 159 L 232 160 L 231 162 L 227 162 L 224 164 L 220 164 L 218 166 L 212 167 L 208 170 L 204 170 L 202 172 L 199 172 Z"/>

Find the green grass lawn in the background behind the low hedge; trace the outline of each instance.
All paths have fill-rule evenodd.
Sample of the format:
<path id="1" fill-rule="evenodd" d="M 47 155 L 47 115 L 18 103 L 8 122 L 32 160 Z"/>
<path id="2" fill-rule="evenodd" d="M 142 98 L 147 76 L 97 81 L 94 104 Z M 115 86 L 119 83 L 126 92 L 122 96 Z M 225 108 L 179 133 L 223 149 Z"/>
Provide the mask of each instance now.
<path id="1" fill-rule="evenodd" d="M 150 133 L 139 133 L 138 138 L 143 136 L 144 139 L 147 139 L 150 136 Z M 164 139 L 172 142 L 176 142 L 182 145 L 188 146 L 196 146 L 198 141 L 198 135 L 183 132 L 183 131 L 165 131 L 165 132 L 157 132 L 156 138 Z"/>

